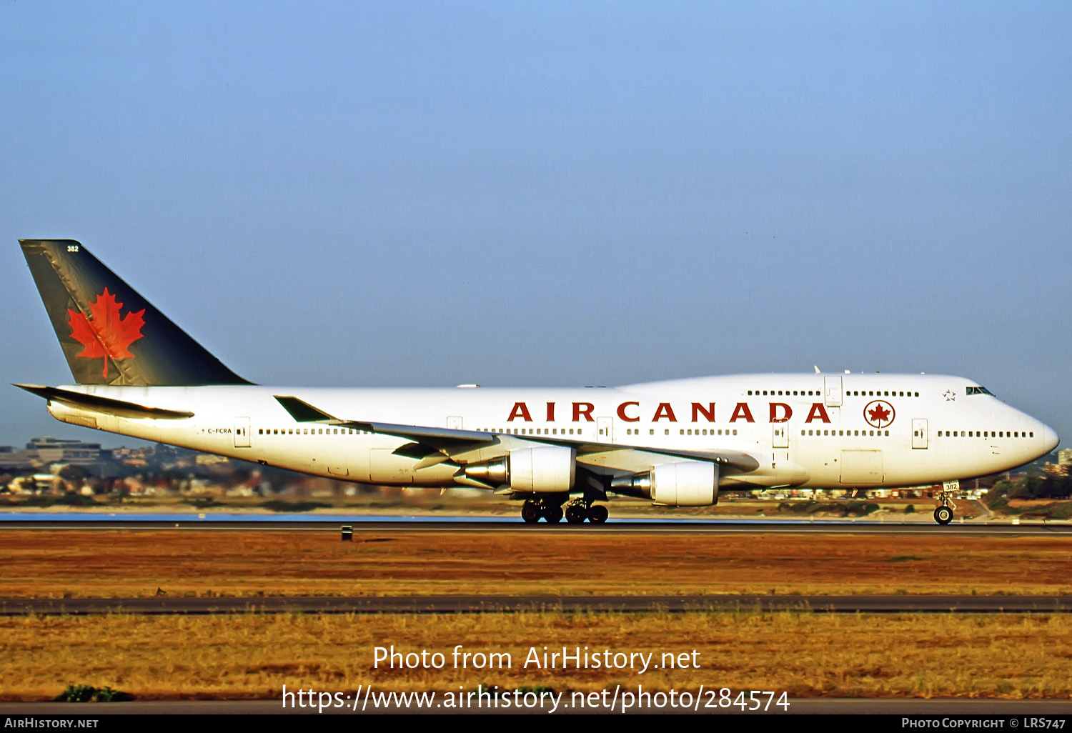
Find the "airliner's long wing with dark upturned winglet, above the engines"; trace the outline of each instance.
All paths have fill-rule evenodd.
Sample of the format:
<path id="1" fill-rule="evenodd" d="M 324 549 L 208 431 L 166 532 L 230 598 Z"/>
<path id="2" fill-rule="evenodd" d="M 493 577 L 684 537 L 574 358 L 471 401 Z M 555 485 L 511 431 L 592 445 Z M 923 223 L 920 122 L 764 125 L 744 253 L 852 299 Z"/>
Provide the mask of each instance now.
<path id="1" fill-rule="evenodd" d="M 659 457 L 670 459 L 686 459 L 690 461 L 710 461 L 723 466 L 735 468 L 741 472 L 751 472 L 759 467 L 759 461 L 755 457 L 744 451 L 734 450 L 673 450 L 664 448 L 647 448 L 637 446 L 621 446 L 612 443 L 592 443 L 587 440 L 572 440 L 563 436 L 551 435 L 500 435 L 497 433 L 485 433 L 475 430 L 455 430 L 450 428 L 426 428 L 420 425 L 399 425 L 384 422 L 367 422 L 362 420 L 342 420 L 324 410 L 310 405 L 296 397 L 285 397 L 277 394 L 276 400 L 283 408 L 291 414 L 298 422 L 316 422 L 321 424 L 339 425 L 362 430 L 369 433 L 379 433 L 383 435 L 393 435 L 396 437 L 412 440 L 398 448 L 394 453 L 407 455 L 414 459 L 426 459 L 434 453 L 441 453 L 447 458 L 466 453 L 479 448 L 490 448 L 497 444 L 503 444 L 504 439 L 517 444 L 539 444 L 551 446 L 566 446 L 577 450 L 577 458 L 580 463 L 585 463 L 584 457 L 600 455 L 598 465 L 614 468 L 615 463 L 623 465 L 635 464 L 638 454 L 651 454 L 653 461 Z M 506 452 L 504 447 L 503 452 Z M 634 459 L 634 460 L 617 460 Z M 630 454 L 630 455 L 626 455 Z"/>

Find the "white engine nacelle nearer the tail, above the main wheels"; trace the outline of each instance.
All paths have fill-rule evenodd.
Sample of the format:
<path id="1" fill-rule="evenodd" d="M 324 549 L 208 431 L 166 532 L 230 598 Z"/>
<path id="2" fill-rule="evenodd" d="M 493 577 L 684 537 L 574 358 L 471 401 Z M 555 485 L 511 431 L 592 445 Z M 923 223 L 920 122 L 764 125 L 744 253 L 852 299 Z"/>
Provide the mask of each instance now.
<path id="1" fill-rule="evenodd" d="M 560 494 L 574 488 L 577 451 L 562 446 L 519 448 L 509 455 L 486 463 L 471 463 L 465 478 L 487 485 L 509 483 L 526 494 Z"/>

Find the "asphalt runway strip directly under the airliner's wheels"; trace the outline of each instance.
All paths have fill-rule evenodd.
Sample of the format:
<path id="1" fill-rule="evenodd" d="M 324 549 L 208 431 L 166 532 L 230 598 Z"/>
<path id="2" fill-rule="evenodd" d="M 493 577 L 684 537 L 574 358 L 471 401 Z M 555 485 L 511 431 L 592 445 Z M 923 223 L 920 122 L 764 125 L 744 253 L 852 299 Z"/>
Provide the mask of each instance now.
<path id="1" fill-rule="evenodd" d="M 791 520 L 769 521 L 726 521 L 726 520 L 667 520 L 667 521 L 610 521 L 602 525 L 580 524 L 525 524 L 520 519 L 480 520 L 453 519 L 430 521 L 422 518 L 391 518 L 369 520 L 366 518 L 347 520 L 343 517 L 330 520 L 301 519 L 243 519 L 212 520 L 182 518 L 176 520 L 144 520 L 128 518 L 102 518 L 78 520 L 42 519 L 8 519 L 0 521 L 0 532 L 5 529 L 41 529 L 41 530 L 77 530 L 92 532 L 102 529 L 160 530 L 160 529 L 215 529 L 227 532 L 340 532 L 343 525 L 353 527 L 354 535 L 368 533 L 600 533 L 600 534 L 757 534 L 757 533 L 796 533 L 796 534 L 852 534 L 852 535 L 946 535 L 946 536 L 1072 536 L 1072 524 L 1069 523 L 967 523 L 939 526 L 929 522 L 796 522 Z"/>

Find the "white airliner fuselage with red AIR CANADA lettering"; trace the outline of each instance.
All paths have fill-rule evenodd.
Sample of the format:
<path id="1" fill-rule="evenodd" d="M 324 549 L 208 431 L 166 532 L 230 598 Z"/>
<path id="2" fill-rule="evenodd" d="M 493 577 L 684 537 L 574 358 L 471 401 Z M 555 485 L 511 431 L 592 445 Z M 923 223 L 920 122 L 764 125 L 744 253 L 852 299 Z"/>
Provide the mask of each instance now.
<path id="1" fill-rule="evenodd" d="M 131 419 L 50 402 L 60 420 L 326 477 L 377 484 L 456 485 L 456 465 L 418 467 L 393 454 L 405 438 L 299 423 L 276 395 L 342 420 L 495 433 L 504 448 L 553 439 L 759 462 L 725 469 L 727 489 L 909 487 L 994 474 L 1057 445 L 1054 431 L 956 376 L 755 374 L 616 388 L 314 388 L 66 386 L 185 419 Z M 609 449 L 581 460 L 597 473 L 647 470 L 653 453 Z M 625 458 L 623 458 L 625 457 Z M 657 458 L 654 460 L 658 460 Z"/>

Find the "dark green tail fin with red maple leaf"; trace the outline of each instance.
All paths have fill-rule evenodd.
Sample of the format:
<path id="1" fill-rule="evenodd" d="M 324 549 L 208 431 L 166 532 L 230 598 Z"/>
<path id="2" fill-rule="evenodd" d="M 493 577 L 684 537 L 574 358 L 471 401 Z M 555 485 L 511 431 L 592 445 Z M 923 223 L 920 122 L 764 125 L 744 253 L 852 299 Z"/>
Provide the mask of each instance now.
<path id="1" fill-rule="evenodd" d="M 73 239 L 20 239 L 79 385 L 248 385 Z"/>

